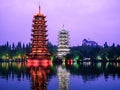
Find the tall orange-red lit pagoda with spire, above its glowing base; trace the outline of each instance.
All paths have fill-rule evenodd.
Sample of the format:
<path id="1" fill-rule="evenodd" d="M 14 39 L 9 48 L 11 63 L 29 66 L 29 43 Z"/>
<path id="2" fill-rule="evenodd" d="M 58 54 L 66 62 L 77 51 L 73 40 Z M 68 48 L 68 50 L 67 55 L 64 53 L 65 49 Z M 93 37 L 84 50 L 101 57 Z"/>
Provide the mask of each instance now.
<path id="1" fill-rule="evenodd" d="M 29 59 L 50 59 L 50 54 L 47 49 L 47 30 L 46 30 L 46 16 L 41 14 L 40 6 L 39 12 L 33 16 L 33 29 L 32 29 L 32 44 Z"/>

